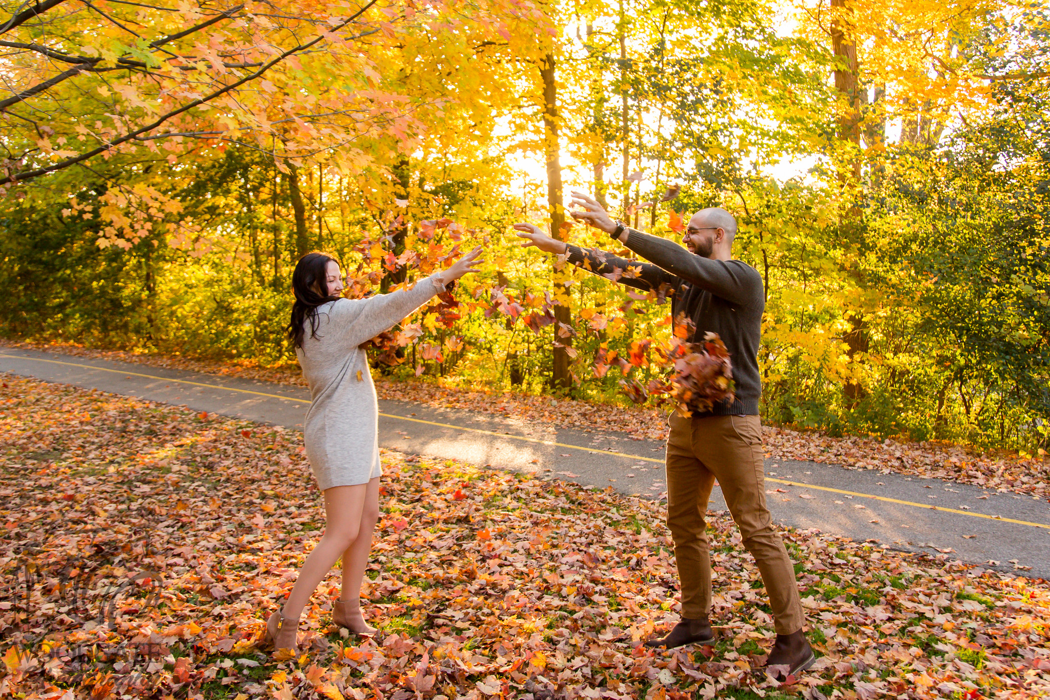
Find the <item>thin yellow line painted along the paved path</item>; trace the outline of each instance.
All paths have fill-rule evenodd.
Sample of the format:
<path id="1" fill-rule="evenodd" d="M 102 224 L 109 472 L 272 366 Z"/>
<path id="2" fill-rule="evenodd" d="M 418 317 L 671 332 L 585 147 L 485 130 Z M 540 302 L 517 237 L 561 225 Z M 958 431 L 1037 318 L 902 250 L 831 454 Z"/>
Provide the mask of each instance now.
<path id="1" fill-rule="evenodd" d="M 307 399 L 297 399 L 294 397 L 279 396 L 277 394 L 267 394 L 265 391 L 252 391 L 251 389 L 238 389 L 232 386 L 223 386 L 220 384 L 205 384 L 203 382 L 191 382 L 186 379 L 170 379 L 168 377 L 158 377 L 155 375 L 143 375 L 134 372 L 124 372 L 122 369 L 110 369 L 109 367 L 97 367 L 90 364 L 78 364 L 76 362 L 60 362 L 58 360 L 44 360 L 37 357 L 19 357 L 17 355 L 0 355 L 0 358 L 8 358 L 12 360 L 34 360 L 36 362 L 48 362 L 50 364 L 61 364 L 68 367 L 81 367 L 83 369 L 96 369 L 99 372 L 110 372 L 117 375 L 124 375 L 126 377 L 142 377 L 145 379 L 156 379 L 163 382 L 177 382 L 180 384 L 190 384 L 192 386 L 203 386 L 210 389 L 219 389 L 223 391 L 236 391 L 238 394 L 251 394 L 253 396 L 268 397 L 270 399 L 284 399 L 286 401 L 297 401 L 299 403 L 310 403 Z M 454 430 L 466 430 L 469 432 L 479 432 L 485 436 L 494 436 L 496 438 L 511 440 L 520 440 L 522 442 L 536 443 L 538 445 L 547 445 L 549 447 L 565 447 L 567 449 L 575 449 L 584 452 L 593 452 L 595 454 L 608 454 L 610 457 L 622 457 L 629 460 L 642 460 L 643 462 L 655 462 L 657 464 L 664 464 L 664 460 L 657 460 L 651 457 L 639 457 L 637 454 L 628 454 L 626 452 L 613 452 L 611 450 L 596 449 L 594 447 L 581 447 L 580 445 L 569 445 L 566 443 L 553 442 L 550 440 L 541 440 L 539 438 L 527 438 L 525 436 L 510 436 L 503 432 L 496 432 L 495 430 L 483 430 L 482 428 L 468 428 L 460 425 L 449 425 L 448 423 L 436 423 L 434 421 L 424 421 L 419 418 L 406 418 L 404 416 L 395 416 L 393 413 L 379 413 L 383 418 L 393 418 L 399 421 L 408 421 L 412 423 L 421 423 L 423 425 L 433 425 L 440 428 L 452 428 Z M 765 478 L 766 482 L 772 482 L 774 484 L 783 484 L 785 486 L 796 486 L 799 488 L 813 489 L 815 491 L 827 491 L 828 493 L 841 493 L 842 495 L 852 495 L 861 499 L 872 499 L 874 501 L 882 501 L 884 503 L 895 503 L 899 506 L 911 506 L 914 508 L 925 508 L 926 510 L 938 510 L 945 513 L 953 513 L 956 515 L 969 515 L 970 517 L 983 517 L 989 521 L 998 521 L 1000 523 L 1012 523 L 1014 525 L 1027 525 L 1033 528 L 1043 528 L 1050 530 L 1050 525 L 1044 523 L 1030 523 L 1028 521 L 1016 521 L 1012 517 L 1002 517 L 999 515 L 987 515 L 985 513 L 971 513 L 967 510 L 957 510 L 954 508 L 942 508 L 941 506 L 931 506 L 926 503 L 916 503 L 914 501 L 902 501 L 900 499 L 890 499 L 884 495 L 875 495 L 873 493 L 861 493 L 860 491 L 845 491 L 842 489 L 831 488 L 828 486 L 814 486 L 813 484 L 802 484 L 800 482 L 790 482 L 783 479 L 771 479 Z"/>

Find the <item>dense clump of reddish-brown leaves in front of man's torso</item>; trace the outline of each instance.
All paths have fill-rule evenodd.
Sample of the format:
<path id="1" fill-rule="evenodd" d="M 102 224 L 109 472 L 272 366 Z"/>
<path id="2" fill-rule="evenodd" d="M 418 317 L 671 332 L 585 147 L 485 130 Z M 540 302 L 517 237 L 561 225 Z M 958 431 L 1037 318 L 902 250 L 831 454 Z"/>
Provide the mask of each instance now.
<path id="1" fill-rule="evenodd" d="M 648 387 L 634 380 L 621 382 L 632 400 L 640 402 L 648 396 L 666 395 L 682 418 L 735 400 L 733 364 L 726 343 L 717 333 L 705 334 L 701 342 L 689 342 L 694 328 L 692 320 L 679 315 L 671 340 L 656 348 L 660 364 L 668 368 L 665 378 L 651 380 Z"/>

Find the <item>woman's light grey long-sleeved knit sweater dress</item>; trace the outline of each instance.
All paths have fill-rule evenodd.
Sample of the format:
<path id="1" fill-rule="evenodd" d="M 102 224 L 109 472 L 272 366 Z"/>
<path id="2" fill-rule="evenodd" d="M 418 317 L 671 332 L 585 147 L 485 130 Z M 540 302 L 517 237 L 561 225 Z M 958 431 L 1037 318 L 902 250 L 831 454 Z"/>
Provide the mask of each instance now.
<path id="1" fill-rule="evenodd" d="M 296 349 L 311 403 L 303 424 L 307 457 L 321 491 L 366 484 L 379 466 L 379 404 L 369 358 L 358 347 L 444 291 L 437 274 L 411 290 L 366 299 L 338 299 L 317 307 L 317 338 L 304 322 Z"/>

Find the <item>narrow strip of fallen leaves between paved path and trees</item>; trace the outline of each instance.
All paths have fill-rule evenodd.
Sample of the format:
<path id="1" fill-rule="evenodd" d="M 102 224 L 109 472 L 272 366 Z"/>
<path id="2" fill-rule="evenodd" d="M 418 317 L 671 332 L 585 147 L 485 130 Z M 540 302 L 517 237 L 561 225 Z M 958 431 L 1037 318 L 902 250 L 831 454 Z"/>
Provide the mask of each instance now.
<path id="1" fill-rule="evenodd" d="M 98 351 L 77 345 L 14 343 L 3 346 L 55 349 L 70 355 L 245 377 L 284 384 L 303 385 L 297 365 L 262 367 L 251 360 L 216 362 L 182 357 Z M 395 382 L 376 378 L 380 398 L 418 401 L 428 406 L 478 410 L 538 425 L 564 425 L 581 429 L 628 432 L 635 439 L 665 440 L 667 413 L 649 407 L 615 406 L 589 401 L 554 400 L 550 397 L 511 393 L 469 391 L 430 382 Z M 1050 501 L 1050 461 L 1044 457 L 973 452 L 959 445 L 914 443 L 847 436 L 832 438 L 822 432 L 763 426 L 765 453 L 774 460 L 802 460 L 837 464 L 847 469 L 888 469 L 902 474 L 933 476 L 984 488 L 1005 489 Z"/>

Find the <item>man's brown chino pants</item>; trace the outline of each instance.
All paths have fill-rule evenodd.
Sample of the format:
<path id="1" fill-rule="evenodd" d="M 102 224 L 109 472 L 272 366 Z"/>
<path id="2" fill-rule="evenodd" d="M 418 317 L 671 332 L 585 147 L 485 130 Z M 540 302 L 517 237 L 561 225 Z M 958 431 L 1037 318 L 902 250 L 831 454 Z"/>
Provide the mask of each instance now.
<path id="1" fill-rule="evenodd" d="M 671 415 L 667 443 L 667 525 L 681 582 L 681 616 L 711 610 L 708 499 L 715 480 L 743 546 L 755 557 L 770 596 L 777 634 L 802 629 L 802 603 L 795 569 L 765 507 L 762 428 L 758 416 L 680 418 Z"/>

